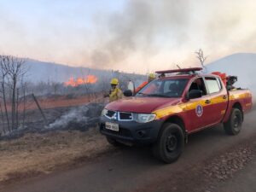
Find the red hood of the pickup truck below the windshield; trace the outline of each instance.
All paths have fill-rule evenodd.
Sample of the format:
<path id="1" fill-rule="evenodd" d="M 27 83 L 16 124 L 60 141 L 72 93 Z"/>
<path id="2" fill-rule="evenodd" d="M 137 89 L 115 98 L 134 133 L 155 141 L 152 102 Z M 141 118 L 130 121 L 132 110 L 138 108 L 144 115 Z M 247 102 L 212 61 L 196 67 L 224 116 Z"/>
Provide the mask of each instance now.
<path id="1" fill-rule="evenodd" d="M 113 111 L 152 113 L 156 109 L 176 105 L 181 98 L 131 97 L 117 102 L 110 102 L 106 108 Z"/>

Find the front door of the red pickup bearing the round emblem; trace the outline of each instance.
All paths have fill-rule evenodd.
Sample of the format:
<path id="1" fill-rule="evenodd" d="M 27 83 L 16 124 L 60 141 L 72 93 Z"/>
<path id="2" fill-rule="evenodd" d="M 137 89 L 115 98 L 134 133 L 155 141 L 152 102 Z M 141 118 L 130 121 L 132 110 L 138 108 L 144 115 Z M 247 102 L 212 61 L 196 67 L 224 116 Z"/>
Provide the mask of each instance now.
<path id="1" fill-rule="evenodd" d="M 189 131 L 201 129 L 209 124 L 208 114 L 212 113 L 210 108 L 211 97 L 207 95 L 206 85 L 202 78 L 197 78 L 189 86 L 189 90 L 201 90 L 202 96 L 200 98 L 190 99 L 186 103 L 185 111 L 188 119 Z"/>

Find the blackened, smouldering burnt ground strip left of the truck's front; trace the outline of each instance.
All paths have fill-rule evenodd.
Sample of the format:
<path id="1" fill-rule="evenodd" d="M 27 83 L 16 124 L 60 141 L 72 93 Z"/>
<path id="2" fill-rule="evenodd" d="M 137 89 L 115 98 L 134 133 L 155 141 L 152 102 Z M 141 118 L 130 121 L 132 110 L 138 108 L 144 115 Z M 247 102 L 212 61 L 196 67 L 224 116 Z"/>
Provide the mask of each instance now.
<path id="1" fill-rule="evenodd" d="M 43 108 L 46 121 L 38 109 L 30 109 L 26 111 L 24 127 L 19 127 L 10 134 L 3 135 L 0 140 L 19 138 L 27 133 L 44 133 L 56 130 L 87 131 L 90 127 L 97 125 L 103 107 L 103 102 L 92 102 L 73 107 Z"/>

